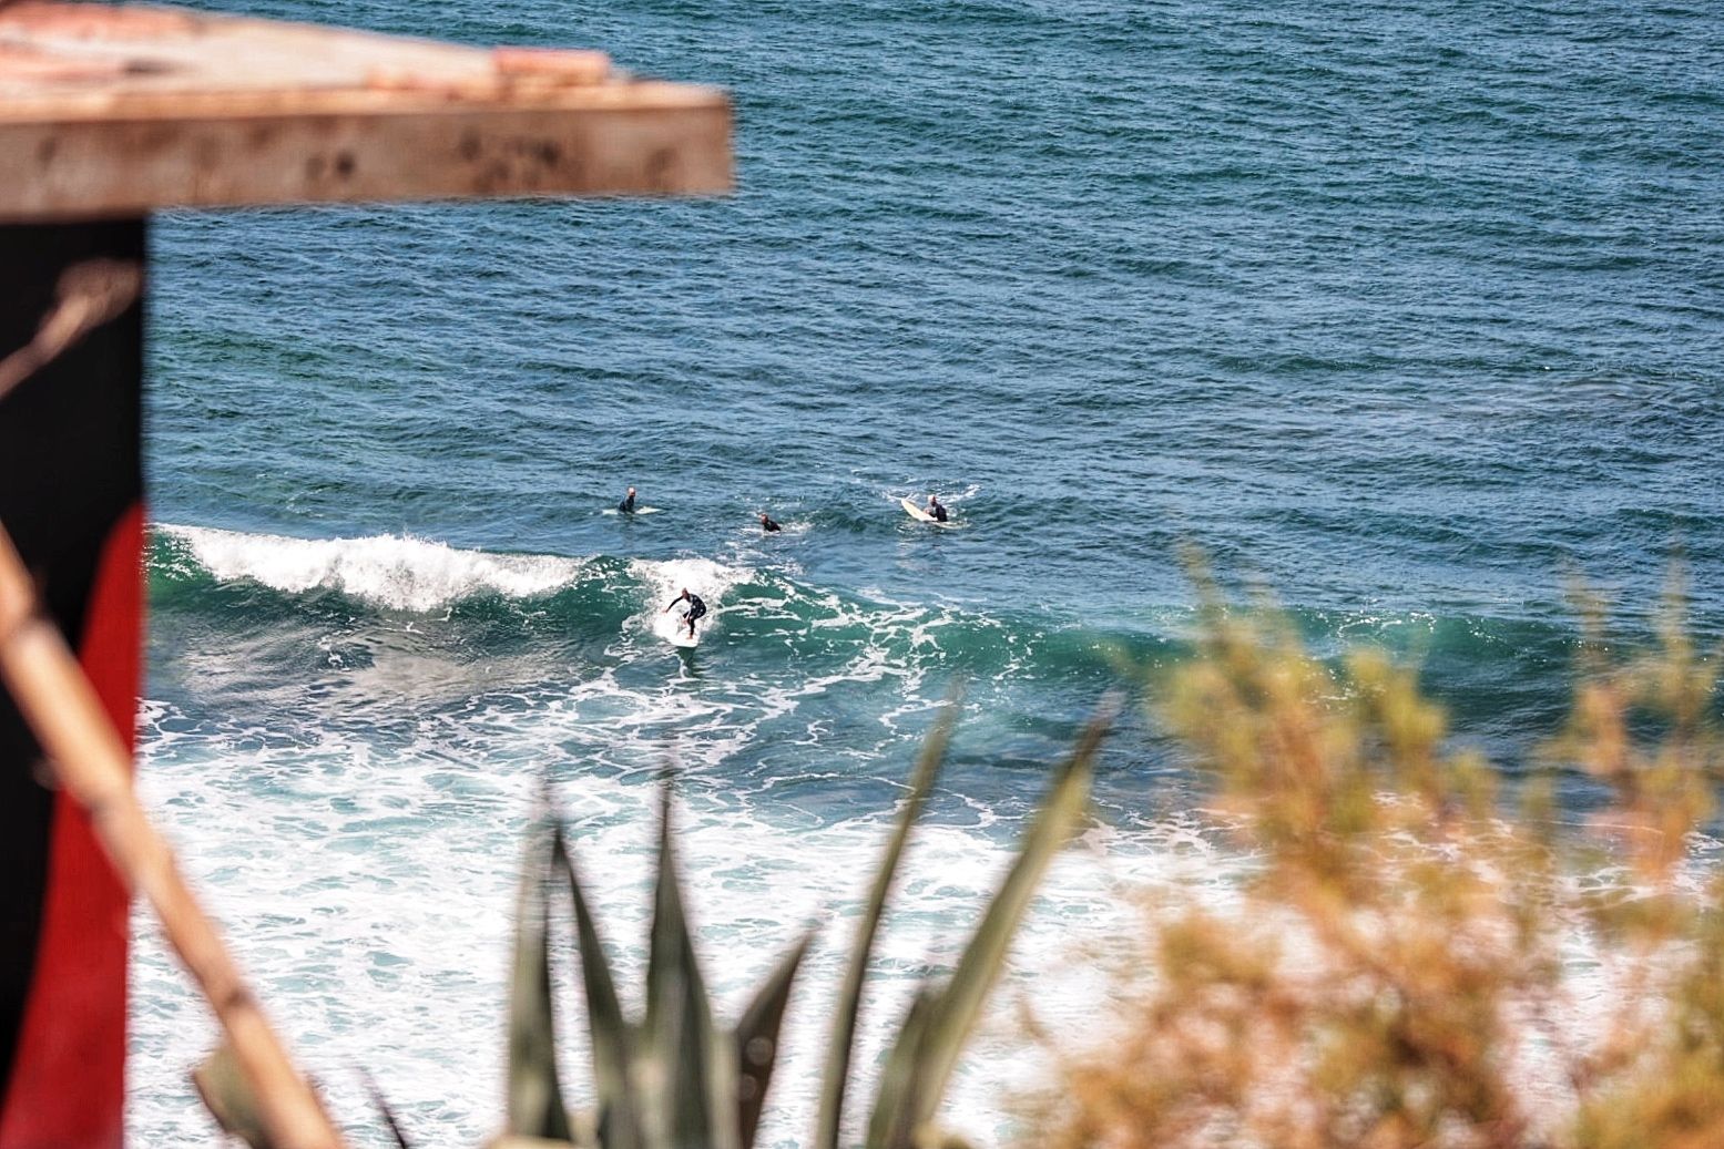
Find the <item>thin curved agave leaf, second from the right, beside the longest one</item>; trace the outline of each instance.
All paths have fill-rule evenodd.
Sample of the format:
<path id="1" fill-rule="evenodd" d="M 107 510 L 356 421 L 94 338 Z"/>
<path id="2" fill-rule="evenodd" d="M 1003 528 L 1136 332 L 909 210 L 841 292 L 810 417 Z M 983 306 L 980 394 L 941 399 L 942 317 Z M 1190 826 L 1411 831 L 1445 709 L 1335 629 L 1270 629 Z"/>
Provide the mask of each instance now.
<path id="1" fill-rule="evenodd" d="M 898 811 L 898 825 L 886 842 L 879 868 L 874 872 L 874 885 L 869 889 L 867 906 L 857 923 L 855 941 L 850 944 L 850 965 L 845 966 L 845 980 L 838 989 L 836 1013 L 833 1015 L 833 1034 L 826 1042 L 826 1075 L 821 1080 L 821 1108 L 815 1115 L 814 1149 L 838 1149 L 838 1123 L 843 1120 L 845 1087 L 850 1078 L 850 1053 L 855 1047 L 857 1011 L 862 1004 L 862 982 L 867 978 L 869 958 L 874 953 L 874 937 L 879 932 L 879 920 L 886 911 L 886 899 L 891 897 L 893 884 L 898 879 L 898 861 L 903 858 L 903 846 L 910 837 L 910 829 L 928 803 L 928 792 L 934 787 L 940 765 L 946 756 L 946 744 L 952 741 L 952 727 L 957 724 L 959 696 L 953 689 L 945 710 L 934 720 L 934 729 L 922 742 L 922 753 L 910 773 L 910 792 Z"/>

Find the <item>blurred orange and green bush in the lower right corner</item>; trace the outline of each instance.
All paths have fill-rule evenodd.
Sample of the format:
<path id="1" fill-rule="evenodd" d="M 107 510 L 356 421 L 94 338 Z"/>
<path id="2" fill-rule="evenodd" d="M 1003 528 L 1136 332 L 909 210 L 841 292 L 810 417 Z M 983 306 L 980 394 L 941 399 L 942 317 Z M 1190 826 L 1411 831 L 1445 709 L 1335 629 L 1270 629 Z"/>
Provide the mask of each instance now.
<path id="1" fill-rule="evenodd" d="M 1672 594 L 1610 661 L 1593 613 L 1548 770 L 1498 792 L 1412 670 L 1312 658 L 1214 593 L 1155 693 L 1250 873 L 1145 894 L 1112 1020 L 1024 1099 L 1038 1149 L 1724 1146 L 1717 658 Z M 1584 772 L 1564 815 L 1550 775 Z"/>

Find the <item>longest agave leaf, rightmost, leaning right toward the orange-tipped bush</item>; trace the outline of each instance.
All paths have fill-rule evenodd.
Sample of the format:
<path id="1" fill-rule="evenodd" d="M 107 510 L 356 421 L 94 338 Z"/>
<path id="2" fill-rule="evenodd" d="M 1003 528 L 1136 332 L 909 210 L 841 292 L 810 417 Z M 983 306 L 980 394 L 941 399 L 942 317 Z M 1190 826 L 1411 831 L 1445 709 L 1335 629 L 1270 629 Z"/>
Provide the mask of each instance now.
<path id="1" fill-rule="evenodd" d="M 1012 935 L 1024 920 L 1036 885 L 1090 803 L 1095 753 L 1117 711 L 1119 701 L 1109 698 L 1084 727 L 1071 758 L 1055 772 L 1053 784 L 1024 834 L 1017 860 L 988 903 L 981 925 L 964 947 L 952 978 L 931 997 L 926 1025 L 912 1034 L 907 1022 L 898 1035 L 888 1068 L 900 1056 L 910 1061 L 914 1087 L 893 1097 L 883 1089 L 876 1097 L 874 1118 L 869 1121 L 871 1149 L 907 1149 L 914 1144 L 917 1130 L 933 1121 L 964 1042 L 976 1027 L 1000 970 L 1005 968 Z M 883 1132 L 881 1140 L 874 1139 L 876 1128 Z"/>

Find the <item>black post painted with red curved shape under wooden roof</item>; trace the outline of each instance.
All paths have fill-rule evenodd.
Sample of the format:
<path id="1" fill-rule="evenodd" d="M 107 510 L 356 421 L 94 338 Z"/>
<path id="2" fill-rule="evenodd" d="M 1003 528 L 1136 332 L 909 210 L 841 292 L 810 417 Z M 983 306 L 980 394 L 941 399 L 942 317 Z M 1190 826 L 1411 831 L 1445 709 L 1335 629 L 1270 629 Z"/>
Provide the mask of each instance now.
<path id="1" fill-rule="evenodd" d="M 0 226 L 0 358 L 147 220 Z M 141 651 L 143 298 L 0 398 L 0 522 L 128 744 Z M 119 1146 L 128 897 L 0 689 L 0 1149 Z"/>

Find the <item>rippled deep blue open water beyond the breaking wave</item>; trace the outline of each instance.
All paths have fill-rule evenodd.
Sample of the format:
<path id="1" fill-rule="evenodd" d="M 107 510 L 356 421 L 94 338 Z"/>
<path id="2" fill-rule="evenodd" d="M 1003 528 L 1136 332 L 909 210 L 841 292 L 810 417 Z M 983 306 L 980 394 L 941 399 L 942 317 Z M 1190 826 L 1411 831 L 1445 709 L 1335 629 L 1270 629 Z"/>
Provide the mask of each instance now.
<path id="1" fill-rule="evenodd" d="M 167 219 L 164 520 L 674 556 L 771 508 L 821 586 L 1124 620 L 1179 537 L 1503 620 L 1681 546 L 1719 613 L 1715 12 L 340 14 L 722 83 L 741 191 Z M 926 489 L 965 532 L 905 553 Z"/>

